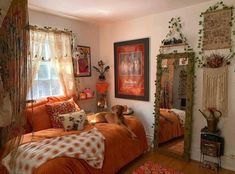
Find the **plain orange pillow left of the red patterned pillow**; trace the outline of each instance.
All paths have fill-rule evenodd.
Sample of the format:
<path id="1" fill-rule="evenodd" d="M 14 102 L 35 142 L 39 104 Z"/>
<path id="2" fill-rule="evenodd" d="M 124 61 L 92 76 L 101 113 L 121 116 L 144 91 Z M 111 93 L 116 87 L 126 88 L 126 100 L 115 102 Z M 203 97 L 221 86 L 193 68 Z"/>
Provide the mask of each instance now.
<path id="1" fill-rule="evenodd" d="M 30 107 L 26 108 L 26 116 L 33 131 L 40 131 L 52 127 L 45 104 L 33 107 L 33 109 Z"/>

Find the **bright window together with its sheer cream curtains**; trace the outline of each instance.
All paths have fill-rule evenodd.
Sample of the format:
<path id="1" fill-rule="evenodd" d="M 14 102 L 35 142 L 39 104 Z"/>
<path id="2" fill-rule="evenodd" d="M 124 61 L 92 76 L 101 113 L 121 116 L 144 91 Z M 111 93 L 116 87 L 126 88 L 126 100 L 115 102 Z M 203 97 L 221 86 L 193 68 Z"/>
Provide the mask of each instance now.
<path id="1" fill-rule="evenodd" d="M 71 33 L 30 29 L 28 99 L 76 96 Z"/>

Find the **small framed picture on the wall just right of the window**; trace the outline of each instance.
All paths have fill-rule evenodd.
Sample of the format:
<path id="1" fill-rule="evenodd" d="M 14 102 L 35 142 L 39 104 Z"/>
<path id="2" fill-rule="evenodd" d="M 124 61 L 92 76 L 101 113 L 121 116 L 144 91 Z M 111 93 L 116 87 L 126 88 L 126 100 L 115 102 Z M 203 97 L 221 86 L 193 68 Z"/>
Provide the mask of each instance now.
<path id="1" fill-rule="evenodd" d="M 76 56 L 73 58 L 74 76 L 91 76 L 91 49 L 88 46 L 78 45 Z"/>

